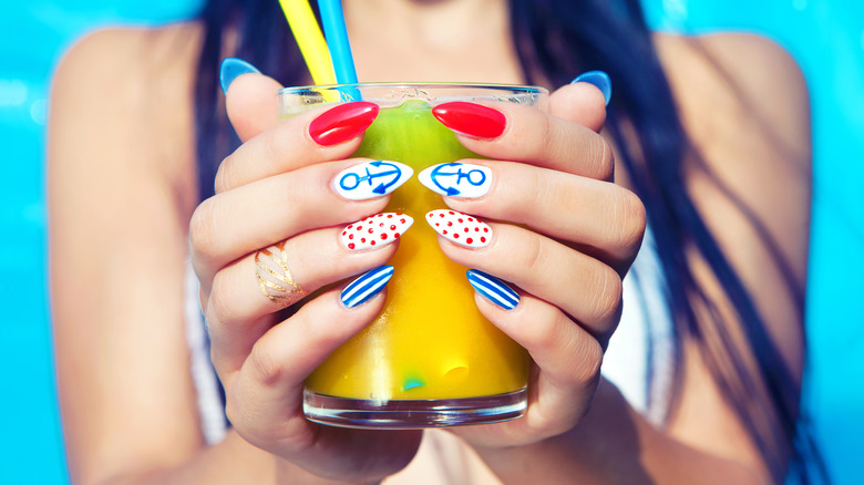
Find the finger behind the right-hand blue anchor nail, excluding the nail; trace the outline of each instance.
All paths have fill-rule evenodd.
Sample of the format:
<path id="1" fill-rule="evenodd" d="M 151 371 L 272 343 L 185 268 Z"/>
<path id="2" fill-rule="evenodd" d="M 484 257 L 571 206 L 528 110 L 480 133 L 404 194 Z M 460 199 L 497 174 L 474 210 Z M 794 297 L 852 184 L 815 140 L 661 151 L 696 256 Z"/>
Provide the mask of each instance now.
<path id="1" fill-rule="evenodd" d="M 630 190 L 525 164 L 465 162 L 488 169 L 490 188 L 479 198 L 445 197 L 451 208 L 575 244 L 620 275 L 629 268 L 646 226 L 645 206 Z"/>

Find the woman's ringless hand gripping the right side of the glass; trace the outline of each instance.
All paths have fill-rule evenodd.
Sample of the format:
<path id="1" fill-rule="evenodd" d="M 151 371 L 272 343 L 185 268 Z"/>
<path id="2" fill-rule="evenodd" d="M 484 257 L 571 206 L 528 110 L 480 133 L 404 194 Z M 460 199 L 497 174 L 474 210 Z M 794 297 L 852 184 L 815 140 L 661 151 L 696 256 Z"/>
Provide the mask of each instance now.
<path id="1" fill-rule="evenodd" d="M 510 310 L 480 293 L 475 299 L 535 363 L 522 419 L 453 430 L 479 447 L 535 443 L 579 422 L 620 318 L 621 278 L 645 234 L 641 202 L 613 182 L 613 152 L 598 134 L 606 116 L 600 92 L 570 84 L 549 105 L 548 113 L 491 105 L 506 120 L 494 138 L 470 136 L 470 124 L 439 117 L 469 149 L 492 158 L 463 162 L 488 167 L 493 180 L 482 197 L 444 197 L 452 209 L 488 221 L 488 246 L 442 237 L 441 247 L 452 260 L 521 289 Z"/>

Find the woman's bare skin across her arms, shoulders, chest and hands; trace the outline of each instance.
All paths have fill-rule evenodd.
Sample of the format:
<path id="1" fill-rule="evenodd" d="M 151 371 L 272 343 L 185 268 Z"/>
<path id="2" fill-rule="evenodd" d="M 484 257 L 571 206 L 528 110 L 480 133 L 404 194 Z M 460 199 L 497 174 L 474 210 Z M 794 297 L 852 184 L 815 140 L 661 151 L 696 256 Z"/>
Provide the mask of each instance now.
<path id="1" fill-rule="evenodd" d="M 344 4 L 360 79 L 522 81 L 504 2 L 362 4 Z M 377 28 L 381 22 L 393 29 Z M 217 195 L 198 205 L 191 93 L 199 35 L 196 24 L 102 31 L 58 69 L 49 128 L 50 257 L 71 476 L 82 484 L 319 484 L 374 483 L 399 473 L 418 454 L 421 433 L 316 426 L 299 405 L 304 376 L 371 321 L 382 296 L 346 309 L 338 290 L 325 291 L 282 321 L 253 277 L 251 255 L 282 240 L 290 255 L 302 255 L 289 267 L 308 290 L 392 256 L 395 245 L 352 254 L 337 242 L 339 228 L 387 203 L 347 202 L 329 189 L 332 176 L 357 163 L 346 157 L 360 137 L 317 145 L 308 124 L 319 112 L 276 125 L 278 85 L 243 75 L 226 104 L 246 144 L 223 162 Z M 760 38 L 656 41 L 701 155 L 686 161 L 687 188 L 800 378 L 802 313 L 794 295 L 806 280 L 810 200 L 804 82 L 794 62 Z M 412 54 L 418 51 L 429 55 Z M 453 430 L 457 438 L 448 446 L 480 471 L 472 483 L 769 482 L 695 342 L 685 341 L 681 395 L 665 429 L 600 378 L 621 305 L 620 277 L 638 249 L 645 214 L 627 174 L 618 167 L 613 178 L 615 147 L 598 134 L 599 91 L 569 85 L 553 94 L 551 106 L 548 114 L 503 107 L 507 128 L 492 141 L 460 136 L 472 151 L 507 163 L 490 165 L 496 184 L 488 196 L 448 204 L 531 223 L 533 230 L 495 223 L 495 239 L 483 250 L 443 240 L 441 249 L 523 290 L 512 311 L 480 297 L 476 303 L 531 352 L 537 372 L 525 417 Z M 553 224 L 556 218 L 565 224 Z M 776 240 L 788 271 L 757 227 Z M 183 330 L 189 250 L 234 424 L 209 447 Z M 740 341 L 731 303 L 704 262 L 691 259 Z M 697 309 L 704 318 L 704 308 Z M 743 359 L 755 373 L 752 355 Z M 754 398 L 768 402 L 764 390 Z M 421 447 L 418 460 L 426 453 Z M 387 483 L 420 483 L 409 478 L 412 466 Z"/>

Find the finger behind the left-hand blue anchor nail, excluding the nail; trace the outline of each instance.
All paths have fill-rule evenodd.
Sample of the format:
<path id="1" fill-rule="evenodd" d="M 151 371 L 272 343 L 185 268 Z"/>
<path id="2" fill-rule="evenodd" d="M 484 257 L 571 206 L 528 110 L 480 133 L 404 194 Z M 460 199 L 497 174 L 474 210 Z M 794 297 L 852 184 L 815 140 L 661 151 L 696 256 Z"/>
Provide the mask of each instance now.
<path id="1" fill-rule="evenodd" d="M 389 197 L 348 200 L 331 187 L 341 169 L 333 162 L 257 180 L 203 202 L 192 216 L 193 266 L 202 285 L 220 268 L 260 248 L 309 229 L 360 220 L 384 208 Z M 394 188 L 394 187 L 391 187 Z"/>

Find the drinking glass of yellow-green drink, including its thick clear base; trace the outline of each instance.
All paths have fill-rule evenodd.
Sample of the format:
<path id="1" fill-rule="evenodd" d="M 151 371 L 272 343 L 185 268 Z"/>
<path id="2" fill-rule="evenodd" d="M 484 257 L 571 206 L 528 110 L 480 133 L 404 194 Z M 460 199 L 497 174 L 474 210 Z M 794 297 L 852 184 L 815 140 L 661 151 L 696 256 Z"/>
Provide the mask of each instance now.
<path id="1" fill-rule="evenodd" d="M 434 103 L 465 101 L 464 96 L 440 95 L 435 89 L 410 92 L 420 92 Z M 367 91 L 362 96 L 379 103 Z M 497 91 L 482 96 L 501 97 Z M 415 174 L 431 165 L 479 157 L 434 118 L 429 101 L 400 99 L 379 104 L 381 111 L 354 156 L 401 162 Z M 438 208 L 445 208 L 441 196 L 413 177 L 392 194 L 385 210 L 405 213 L 420 223 Z M 448 259 L 435 231 L 422 223 L 401 236 L 389 264 L 395 272 L 384 310 L 307 379 L 307 415 L 329 424 L 374 427 L 518 416 L 525 406 L 529 358 L 476 309 L 474 289 L 465 277 L 467 268 Z M 501 407 L 496 396 L 505 396 L 500 413 L 490 411 Z M 354 411 L 328 410 L 351 407 L 354 402 L 359 403 Z M 451 405 L 467 411 L 454 417 L 454 411 L 445 410 Z M 370 417 L 376 413 L 378 417 Z"/>

